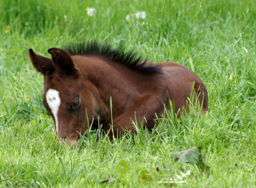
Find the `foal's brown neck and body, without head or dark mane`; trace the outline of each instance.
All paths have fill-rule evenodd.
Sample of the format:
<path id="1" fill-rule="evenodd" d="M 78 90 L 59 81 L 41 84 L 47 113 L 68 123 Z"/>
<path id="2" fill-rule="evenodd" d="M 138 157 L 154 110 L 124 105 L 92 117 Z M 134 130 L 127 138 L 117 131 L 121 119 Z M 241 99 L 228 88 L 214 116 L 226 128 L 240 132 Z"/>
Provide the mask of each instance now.
<path id="1" fill-rule="evenodd" d="M 203 112 L 208 109 L 208 94 L 203 82 L 185 66 L 175 62 L 160 64 L 162 72 L 159 74 L 141 74 L 129 68 L 94 56 L 72 56 L 80 72 L 84 72 L 82 90 L 88 96 L 93 93 L 93 106 L 87 108 L 88 117 L 96 120 L 100 117 L 104 130 L 109 130 L 112 124 L 110 114 L 110 97 L 112 98 L 112 117 L 114 135 L 118 132 L 130 130 L 134 132 L 132 121 L 140 123 L 145 117 L 146 127 L 154 128 L 155 113 L 161 115 L 164 105 L 170 109 L 168 100 L 175 103 L 177 112 L 182 106 L 186 108 L 186 100 L 190 97 L 192 84 L 194 94 L 199 89 L 200 104 L 203 100 Z M 153 63 L 146 63 L 145 66 Z M 104 67 L 104 70 L 102 70 Z M 88 79 L 93 78 L 93 79 Z M 100 84 L 97 84 L 100 83 Z M 200 87 L 199 87 L 200 86 Z M 89 94 L 90 95 L 90 94 Z M 117 96 L 117 97 L 115 97 Z M 175 101 L 174 101 L 175 100 Z M 86 106 L 89 106 L 86 105 Z M 91 120 L 91 119 L 90 119 Z M 98 121 L 97 123 L 98 128 Z"/>

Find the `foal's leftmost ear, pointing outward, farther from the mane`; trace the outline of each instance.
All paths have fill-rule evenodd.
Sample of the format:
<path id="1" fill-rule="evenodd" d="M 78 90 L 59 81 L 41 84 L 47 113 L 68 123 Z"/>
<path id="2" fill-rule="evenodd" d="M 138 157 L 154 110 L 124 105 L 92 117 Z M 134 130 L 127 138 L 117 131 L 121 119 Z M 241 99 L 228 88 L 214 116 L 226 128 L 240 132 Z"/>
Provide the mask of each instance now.
<path id="1" fill-rule="evenodd" d="M 28 56 L 38 72 L 45 74 L 46 71 L 54 71 L 51 59 L 36 54 L 32 49 L 28 50 Z"/>

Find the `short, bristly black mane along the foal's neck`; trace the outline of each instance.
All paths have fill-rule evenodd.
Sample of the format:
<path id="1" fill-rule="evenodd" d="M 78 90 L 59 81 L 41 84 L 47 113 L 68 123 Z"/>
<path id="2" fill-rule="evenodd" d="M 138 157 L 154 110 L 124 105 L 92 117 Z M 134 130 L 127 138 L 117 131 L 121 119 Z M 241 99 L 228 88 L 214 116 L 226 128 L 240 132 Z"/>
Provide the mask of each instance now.
<path id="1" fill-rule="evenodd" d="M 71 55 L 96 55 L 110 58 L 114 62 L 143 74 L 158 74 L 161 72 L 159 65 L 146 65 L 146 60 L 142 60 L 141 56 L 138 56 L 135 52 L 125 52 L 123 48 L 113 49 L 110 45 L 97 41 L 71 43 L 64 46 L 64 50 Z"/>

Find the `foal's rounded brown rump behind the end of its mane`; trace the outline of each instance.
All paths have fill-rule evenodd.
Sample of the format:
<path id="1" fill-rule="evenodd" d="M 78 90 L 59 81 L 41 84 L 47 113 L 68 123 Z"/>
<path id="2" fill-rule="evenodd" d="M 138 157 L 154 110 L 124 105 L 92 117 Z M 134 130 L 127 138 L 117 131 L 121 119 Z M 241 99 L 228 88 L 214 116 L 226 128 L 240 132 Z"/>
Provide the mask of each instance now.
<path id="1" fill-rule="evenodd" d="M 190 98 L 190 93 L 193 92 L 198 97 L 200 105 L 202 105 L 202 113 L 205 113 L 208 110 L 208 92 L 202 80 L 181 64 L 163 62 L 160 65 L 168 80 L 168 83 L 166 83 L 168 95 L 175 104 L 175 111 L 186 107 L 186 101 Z M 193 84 L 194 88 L 192 88 Z M 186 110 L 188 110 L 188 107 L 186 107 Z"/>

